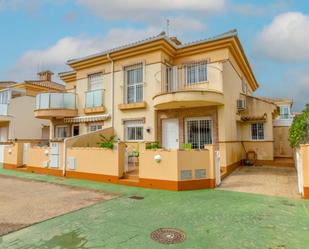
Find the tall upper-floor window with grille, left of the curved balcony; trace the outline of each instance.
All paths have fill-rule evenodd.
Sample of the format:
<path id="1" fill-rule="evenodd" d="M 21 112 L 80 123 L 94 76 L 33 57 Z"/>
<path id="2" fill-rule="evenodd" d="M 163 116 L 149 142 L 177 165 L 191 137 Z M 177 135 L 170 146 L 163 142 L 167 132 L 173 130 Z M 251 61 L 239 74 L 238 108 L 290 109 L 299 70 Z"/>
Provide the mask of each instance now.
<path id="1" fill-rule="evenodd" d="M 142 102 L 144 98 L 143 64 L 125 67 L 126 103 Z"/>

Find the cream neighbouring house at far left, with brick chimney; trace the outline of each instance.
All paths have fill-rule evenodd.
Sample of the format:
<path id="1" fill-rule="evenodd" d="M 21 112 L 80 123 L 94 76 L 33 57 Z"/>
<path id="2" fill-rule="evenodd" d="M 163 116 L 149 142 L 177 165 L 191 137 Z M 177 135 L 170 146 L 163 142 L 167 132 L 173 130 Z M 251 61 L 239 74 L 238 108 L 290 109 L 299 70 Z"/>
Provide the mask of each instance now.
<path id="1" fill-rule="evenodd" d="M 33 114 L 35 96 L 40 92 L 63 91 L 64 86 L 52 82 L 52 72 L 40 72 L 38 76 L 39 80 L 9 82 L 5 86 L 0 83 L 0 162 L 3 144 L 49 139 L 49 122 L 38 120 Z"/>

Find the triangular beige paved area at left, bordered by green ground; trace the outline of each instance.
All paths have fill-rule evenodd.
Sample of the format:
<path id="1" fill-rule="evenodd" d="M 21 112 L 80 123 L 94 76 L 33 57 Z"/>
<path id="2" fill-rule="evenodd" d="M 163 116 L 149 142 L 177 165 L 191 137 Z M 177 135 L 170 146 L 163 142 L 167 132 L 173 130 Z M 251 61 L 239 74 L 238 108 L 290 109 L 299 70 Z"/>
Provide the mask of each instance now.
<path id="1" fill-rule="evenodd" d="M 101 191 L 0 175 L 0 235 L 113 197 Z"/>

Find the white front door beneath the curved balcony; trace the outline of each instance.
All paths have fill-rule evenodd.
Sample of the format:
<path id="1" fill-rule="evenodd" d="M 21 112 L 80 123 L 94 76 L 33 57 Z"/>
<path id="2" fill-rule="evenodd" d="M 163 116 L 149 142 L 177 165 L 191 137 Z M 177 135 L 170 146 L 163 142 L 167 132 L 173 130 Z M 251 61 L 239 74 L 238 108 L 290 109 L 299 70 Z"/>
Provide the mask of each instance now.
<path id="1" fill-rule="evenodd" d="M 162 120 L 162 145 L 165 149 L 179 149 L 178 119 Z"/>

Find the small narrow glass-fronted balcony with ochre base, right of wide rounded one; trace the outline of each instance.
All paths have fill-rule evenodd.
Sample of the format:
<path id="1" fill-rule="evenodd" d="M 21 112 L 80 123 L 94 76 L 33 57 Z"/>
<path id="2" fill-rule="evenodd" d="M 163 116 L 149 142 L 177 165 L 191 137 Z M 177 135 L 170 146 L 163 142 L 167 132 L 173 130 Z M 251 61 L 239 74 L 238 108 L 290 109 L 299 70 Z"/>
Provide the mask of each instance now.
<path id="1" fill-rule="evenodd" d="M 85 92 L 86 114 L 105 112 L 104 107 L 104 89 L 90 90 Z"/>

